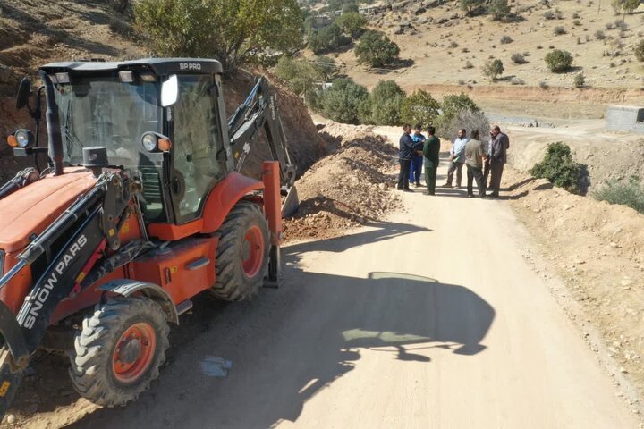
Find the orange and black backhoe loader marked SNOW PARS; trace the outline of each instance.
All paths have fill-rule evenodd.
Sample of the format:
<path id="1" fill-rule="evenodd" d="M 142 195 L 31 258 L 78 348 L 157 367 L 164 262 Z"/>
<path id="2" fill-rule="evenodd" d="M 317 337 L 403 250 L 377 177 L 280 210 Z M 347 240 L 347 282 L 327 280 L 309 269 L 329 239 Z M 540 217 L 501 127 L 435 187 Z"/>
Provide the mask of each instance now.
<path id="1" fill-rule="evenodd" d="M 192 297 L 234 301 L 276 286 L 282 217 L 297 208 L 263 80 L 228 120 L 215 60 L 50 63 L 39 76 L 35 100 L 25 78 L 16 103 L 37 131 L 8 143 L 47 167 L 0 187 L 2 416 L 44 342 L 69 353 L 81 396 L 108 407 L 135 400 Z M 239 172 L 259 130 L 274 158 L 261 181 Z"/>

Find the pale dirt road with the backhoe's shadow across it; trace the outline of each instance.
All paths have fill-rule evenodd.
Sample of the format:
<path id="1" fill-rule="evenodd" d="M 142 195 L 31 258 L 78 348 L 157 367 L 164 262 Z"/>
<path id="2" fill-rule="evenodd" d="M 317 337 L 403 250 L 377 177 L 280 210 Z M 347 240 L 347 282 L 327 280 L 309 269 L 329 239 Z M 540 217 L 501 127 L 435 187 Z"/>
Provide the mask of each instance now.
<path id="1" fill-rule="evenodd" d="M 284 287 L 210 316 L 199 301 L 138 402 L 49 416 L 94 429 L 638 427 L 555 280 L 521 257 L 530 240 L 511 210 L 462 192 L 405 194 L 389 222 L 284 248 Z M 231 359 L 230 374 L 208 376 L 208 357 Z"/>

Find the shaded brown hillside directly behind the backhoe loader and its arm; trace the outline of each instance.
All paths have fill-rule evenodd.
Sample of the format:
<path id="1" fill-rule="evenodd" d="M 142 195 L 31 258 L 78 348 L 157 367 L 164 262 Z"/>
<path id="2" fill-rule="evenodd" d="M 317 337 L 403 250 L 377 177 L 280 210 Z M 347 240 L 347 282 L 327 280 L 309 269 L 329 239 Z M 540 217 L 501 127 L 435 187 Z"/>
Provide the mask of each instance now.
<path id="1" fill-rule="evenodd" d="M 4 144 L 7 133 L 34 128 L 25 111 L 15 110 L 14 97 L 22 76 L 34 78 L 39 65 L 54 61 L 82 58 L 110 61 L 148 56 L 131 27 L 131 13 L 118 4 L 106 0 L 0 2 L 0 141 L 3 142 L 0 144 L 0 181 L 13 177 L 31 161 L 14 158 Z M 253 75 L 260 74 L 267 71 L 239 71 L 225 80 L 227 114 L 232 114 L 248 95 L 254 83 Z M 270 75 L 268 79 L 277 93 L 291 155 L 301 173 L 324 152 L 323 142 L 300 98 Z M 44 133 L 43 136 L 46 139 Z M 251 151 L 244 172 L 258 174 L 259 161 L 269 156 L 268 148 L 260 140 Z"/>

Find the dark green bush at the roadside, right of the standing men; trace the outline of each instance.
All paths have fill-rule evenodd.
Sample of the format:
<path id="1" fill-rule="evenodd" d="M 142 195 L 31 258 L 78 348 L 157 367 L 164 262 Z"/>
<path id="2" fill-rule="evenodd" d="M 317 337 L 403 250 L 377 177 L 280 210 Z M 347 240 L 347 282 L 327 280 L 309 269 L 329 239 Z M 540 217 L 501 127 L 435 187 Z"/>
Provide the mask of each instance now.
<path id="1" fill-rule="evenodd" d="M 547 146 L 543 161 L 534 164 L 530 174 L 546 179 L 559 188 L 573 194 L 580 194 L 582 166 L 572 160 L 570 147 L 561 141 Z"/>

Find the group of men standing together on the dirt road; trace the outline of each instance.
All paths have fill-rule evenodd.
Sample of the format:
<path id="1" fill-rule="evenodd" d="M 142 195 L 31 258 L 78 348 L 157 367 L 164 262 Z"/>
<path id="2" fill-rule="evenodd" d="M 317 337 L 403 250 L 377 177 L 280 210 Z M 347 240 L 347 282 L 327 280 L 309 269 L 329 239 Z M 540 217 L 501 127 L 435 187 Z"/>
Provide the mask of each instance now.
<path id="1" fill-rule="evenodd" d="M 427 185 L 426 195 L 436 194 L 436 170 L 438 168 L 440 154 L 440 139 L 436 137 L 436 129 L 428 127 L 426 138 L 422 134 L 422 126 L 416 125 L 413 134 L 411 125 L 405 124 L 402 127 L 403 133 L 400 139 L 400 165 L 397 189 L 411 192 L 410 182 L 420 187 L 420 175 L 422 172 L 423 160 L 425 164 L 425 183 Z M 458 130 L 456 139 L 450 148 L 450 165 L 447 170 L 447 181 L 445 187 L 452 188 L 453 176 L 456 174 L 454 189 L 459 189 L 462 182 L 462 167 L 467 166 L 467 192 L 468 197 L 474 197 L 473 181 L 476 181 L 479 190 L 479 197 L 497 198 L 501 187 L 501 176 L 503 175 L 504 164 L 507 161 L 507 149 L 510 147 L 510 139 L 501 132 L 498 125 L 490 128 L 490 140 L 486 144 L 479 137 L 479 131 L 470 132 L 467 137 L 467 130 Z M 491 176 L 489 187 L 487 179 Z M 487 189 L 492 192 L 487 194 Z"/>

